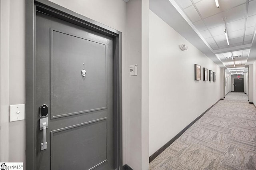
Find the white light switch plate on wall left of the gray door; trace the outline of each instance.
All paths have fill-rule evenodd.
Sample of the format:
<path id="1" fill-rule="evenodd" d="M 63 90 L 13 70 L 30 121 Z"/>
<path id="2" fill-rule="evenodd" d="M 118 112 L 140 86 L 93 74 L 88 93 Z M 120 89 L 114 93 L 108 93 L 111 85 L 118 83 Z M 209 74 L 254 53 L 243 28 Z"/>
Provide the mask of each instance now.
<path id="1" fill-rule="evenodd" d="M 25 105 L 10 105 L 10 122 L 25 119 Z"/>

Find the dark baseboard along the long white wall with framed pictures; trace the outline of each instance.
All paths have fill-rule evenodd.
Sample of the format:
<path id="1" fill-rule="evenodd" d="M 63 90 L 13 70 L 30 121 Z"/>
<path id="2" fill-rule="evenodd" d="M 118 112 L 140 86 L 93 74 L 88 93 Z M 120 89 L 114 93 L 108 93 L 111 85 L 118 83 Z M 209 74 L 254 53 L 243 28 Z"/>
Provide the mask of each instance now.
<path id="1" fill-rule="evenodd" d="M 221 100 L 221 99 L 220 99 Z M 188 128 L 190 128 L 196 121 L 198 121 L 206 112 L 208 112 L 214 105 L 216 105 L 220 100 L 214 103 L 211 107 L 209 107 L 202 115 L 198 116 L 194 121 L 192 121 L 188 126 L 186 126 L 183 130 L 181 130 L 176 136 L 174 136 L 169 142 L 167 142 L 164 146 L 158 149 L 154 154 L 149 157 L 149 163 L 152 162 L 158 155 L 160 155 L 166 148 L 168 148 L 175 140 L 177 140 Z M 223 99 L 222 99 L 223 100 Z"/>

